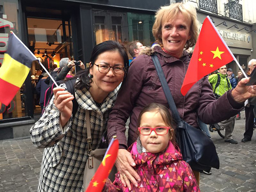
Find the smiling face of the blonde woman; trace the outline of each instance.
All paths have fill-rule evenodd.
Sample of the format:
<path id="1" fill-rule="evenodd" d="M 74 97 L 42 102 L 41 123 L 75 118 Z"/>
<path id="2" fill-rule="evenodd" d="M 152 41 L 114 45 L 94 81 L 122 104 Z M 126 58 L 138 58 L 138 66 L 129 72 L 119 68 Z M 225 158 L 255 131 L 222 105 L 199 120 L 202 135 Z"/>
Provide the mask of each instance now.
<path id="1" fill-rule="evenodd" d="M 186 42 L 190 40 L 190 21 L 181 13 L 172 20 L 163 23 L 163 47 L 177 58 L 180 58 Z"/>

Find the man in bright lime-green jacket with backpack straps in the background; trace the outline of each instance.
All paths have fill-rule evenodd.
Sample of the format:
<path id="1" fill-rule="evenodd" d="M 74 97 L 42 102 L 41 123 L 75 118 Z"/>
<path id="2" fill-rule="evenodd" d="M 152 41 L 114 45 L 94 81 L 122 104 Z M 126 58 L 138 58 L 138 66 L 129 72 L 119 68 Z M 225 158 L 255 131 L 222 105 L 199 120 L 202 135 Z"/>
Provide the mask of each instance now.
<path id="1" fill-rule="evenodd" d="M 230 80 L 227 78 L 226 65 L 220 67 L 218 69 L 217 74 L 210 75 L 209 82 L 212 85 L 213 93 L 214 93 L 216 99 L 218 99 L 220 96 L 222 96 L 228 90 L 232 89 Z M 236 118 L 236 116 L 232 116 L 229 119 L 226 119 L 226 120 L 218 123 L 218 125 L 220 125 L 221 128 L 225 128 L 224 141 L 228 142 L 228 143 L 232 143 L 232 144 L 237 144 L 237 141 L 233 140 L 233 138 L 232 138 L 232 132 L 233 132 L 234 126 L 235 126 L 235 118 Z"/>

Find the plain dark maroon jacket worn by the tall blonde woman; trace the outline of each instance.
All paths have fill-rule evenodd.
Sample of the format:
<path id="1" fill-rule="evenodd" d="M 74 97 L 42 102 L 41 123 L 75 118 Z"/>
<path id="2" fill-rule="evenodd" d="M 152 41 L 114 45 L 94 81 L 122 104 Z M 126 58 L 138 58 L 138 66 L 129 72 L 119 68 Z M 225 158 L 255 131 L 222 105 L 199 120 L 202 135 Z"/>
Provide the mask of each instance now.
<path id="1" fill-rule="evenodd" d="M 151 51 L 151 50 L 150 50 Z M 243 103 L 234 101 L 231 91 L 215 100 L 208 76 L 200 79 L 188 91 L 186 96 L 180 93 L 190 57 L 186 51 L 178 59 L 154 47 L 163 73 L 170 87 L 180 118 L 188 124 L 198 127 L 198 117 L 206 124 L 221 122 L 236 115 Z M 148 52 L 148 54 L 150 54 Z M 160 80 L 157 76 L 151 56 L 139 55 L 129 68 L 125 82 L 118 93 L 115 106 L 108 119 L 108 140 L 114 135 L 119 140 L 119 148 L 128 148 L 138 137 L 137 119 L 140 111 L 149 103 L 160 103 L 169 108 Z M 125 137 L 125 122 L 130 116 L 128 141 Z"/>

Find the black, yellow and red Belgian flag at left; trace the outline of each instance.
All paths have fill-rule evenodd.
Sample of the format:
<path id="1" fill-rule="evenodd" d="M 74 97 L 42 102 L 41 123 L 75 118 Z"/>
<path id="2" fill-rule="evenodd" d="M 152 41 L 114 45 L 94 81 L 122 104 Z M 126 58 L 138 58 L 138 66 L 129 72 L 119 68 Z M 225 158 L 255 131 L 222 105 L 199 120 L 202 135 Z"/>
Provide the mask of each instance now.
<path id="1" fill-rule="evenodd" d="M 0 102 L 8 106 L 28 76 L 35 55 L 11 32 L 0 67 Z"/>

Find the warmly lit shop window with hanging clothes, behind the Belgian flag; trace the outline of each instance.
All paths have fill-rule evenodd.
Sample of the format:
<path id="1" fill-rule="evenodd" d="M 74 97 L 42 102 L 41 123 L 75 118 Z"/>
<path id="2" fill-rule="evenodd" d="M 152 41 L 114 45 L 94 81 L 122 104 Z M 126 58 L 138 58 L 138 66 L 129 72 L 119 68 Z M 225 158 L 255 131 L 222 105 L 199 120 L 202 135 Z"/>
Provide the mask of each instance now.
<path id="1" fill-rule="evenodd" d="M 29 49 L 49 72 L 59 67 L 61 58 L 73 60 L 70 21 L 28 17 L 27 26 Z M 35 115 L 41 114 L 41 105 L 44 101 L 41 98 L 41 91 L 44 89 L 36 87 L 41 78 L 47 78 L 47 73 L 38 62 L 33 62 L 31 84 Z"/>

